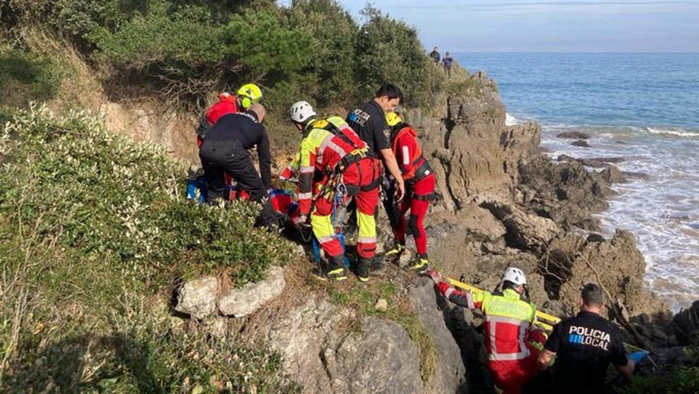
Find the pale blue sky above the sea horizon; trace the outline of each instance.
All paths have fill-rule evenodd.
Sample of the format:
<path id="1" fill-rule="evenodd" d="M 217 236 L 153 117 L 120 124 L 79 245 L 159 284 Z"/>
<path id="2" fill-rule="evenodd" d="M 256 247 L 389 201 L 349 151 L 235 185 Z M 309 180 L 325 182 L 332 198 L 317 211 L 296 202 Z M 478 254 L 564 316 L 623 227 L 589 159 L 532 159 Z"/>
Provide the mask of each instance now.
<path id="1" fill-rule="evenodd" d="M 699 52 L 699 0 L 372 2 L 442 53 Z M 366 5 L 340 3 L 355 18 Z"/>

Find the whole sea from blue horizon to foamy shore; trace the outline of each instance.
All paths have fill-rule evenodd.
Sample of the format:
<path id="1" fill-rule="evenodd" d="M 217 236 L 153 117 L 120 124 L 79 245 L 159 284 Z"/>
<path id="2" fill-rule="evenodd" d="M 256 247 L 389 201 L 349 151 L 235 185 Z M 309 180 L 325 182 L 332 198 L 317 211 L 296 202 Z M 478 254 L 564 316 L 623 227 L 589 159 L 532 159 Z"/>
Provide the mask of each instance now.
<path id="1" fill-rule="evenodd" d="M 630 229 L 673 309 L 699 299 L 699 54 L 455 54 L 498 83 L 508 123 L 537 120 L 549 154 L 621 156 L 605 234 Z M 590 134 L 590 148 L 556 138 Z"/>

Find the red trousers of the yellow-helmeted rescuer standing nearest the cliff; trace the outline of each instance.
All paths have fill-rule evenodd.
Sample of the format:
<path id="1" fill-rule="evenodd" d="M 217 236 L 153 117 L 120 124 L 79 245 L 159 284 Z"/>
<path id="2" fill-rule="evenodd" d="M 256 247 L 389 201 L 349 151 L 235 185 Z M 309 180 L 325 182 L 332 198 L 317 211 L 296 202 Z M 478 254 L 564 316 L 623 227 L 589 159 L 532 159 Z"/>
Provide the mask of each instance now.
<path id="1" fill-rule="evenodd" d="M 406 191 L 405 198 L 400 202 L 400 219 L 398 225 L 393 229 L 393 236 L 403 244 L 405 243 L 405 227 L 410 225 L 419 254 L 427 253 L 427 234 L 423 222 L 427 208 L 429 208 L 429 201 L 426 201 L 424 196 L 434 193 L 435 184 L 434 174 L 429 174 L 410 186 L 410 191 Z M 405 221 L 405 213 L 408 210 L 410 210 L 410 222 Z"/>

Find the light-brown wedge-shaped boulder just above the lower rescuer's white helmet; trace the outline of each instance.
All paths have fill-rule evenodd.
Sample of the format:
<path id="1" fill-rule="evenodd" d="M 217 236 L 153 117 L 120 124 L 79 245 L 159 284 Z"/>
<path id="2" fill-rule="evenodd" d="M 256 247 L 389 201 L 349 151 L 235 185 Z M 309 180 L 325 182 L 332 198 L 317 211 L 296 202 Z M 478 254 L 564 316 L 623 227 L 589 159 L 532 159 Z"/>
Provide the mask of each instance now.
<path id="1" fill-rule="evenodd" d="M 507 233 L 508 246 L 537 251 L 544 247 L 561 229 L 550 219 L 531 215 L 508 203 L 487 201 L 481 206 L 500 220 Z"/>

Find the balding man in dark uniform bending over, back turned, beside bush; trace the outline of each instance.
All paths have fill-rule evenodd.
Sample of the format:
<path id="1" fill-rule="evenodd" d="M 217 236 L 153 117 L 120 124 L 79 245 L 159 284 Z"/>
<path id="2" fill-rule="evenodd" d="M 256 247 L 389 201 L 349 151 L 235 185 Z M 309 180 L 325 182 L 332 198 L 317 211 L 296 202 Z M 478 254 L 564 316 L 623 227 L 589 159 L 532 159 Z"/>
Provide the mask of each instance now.
<path id="1" fill-rule="evenodd" d="M 199 157 L 204 168 L 208 189 L 207 202 L 213 203 L 228 195 L 224 172 L 232 175 L 242 189 L 250 193 L 250 199 L 262 204 L 258 225 L 271 228 L 275 214 L 268 198 L 272 186 L 270 142 L 262 121 L 265 107 L 253 104 L 246 112 L 220 117 L 208 131 Z M 260 174 L 250 158 L 248 150 L 257 147 Z"/>

